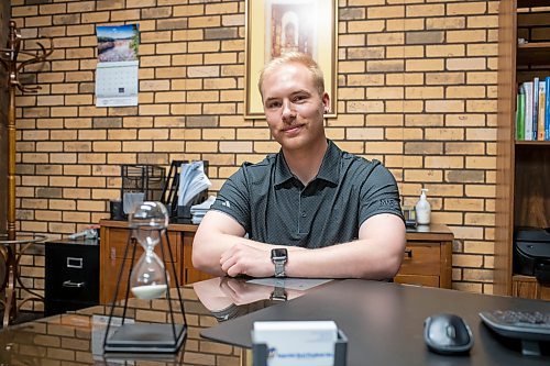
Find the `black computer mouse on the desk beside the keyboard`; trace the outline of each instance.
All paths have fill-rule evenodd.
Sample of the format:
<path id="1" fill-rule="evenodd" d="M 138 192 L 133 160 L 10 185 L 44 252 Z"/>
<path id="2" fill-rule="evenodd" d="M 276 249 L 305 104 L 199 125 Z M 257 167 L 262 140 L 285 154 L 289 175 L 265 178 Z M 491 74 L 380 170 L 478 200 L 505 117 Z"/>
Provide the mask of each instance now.
<path id="1" fill-rule="evenodd" d="M 474 337 L 464 319 L 454 314 L 433 314 L 424 321 L 424 340 L 432 352 L 464 354 L 472 348 Z"/>

